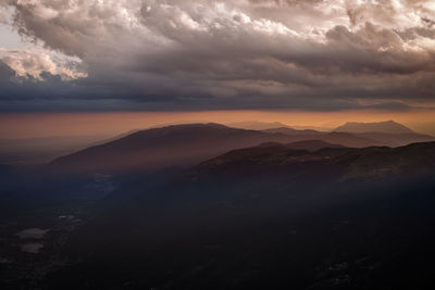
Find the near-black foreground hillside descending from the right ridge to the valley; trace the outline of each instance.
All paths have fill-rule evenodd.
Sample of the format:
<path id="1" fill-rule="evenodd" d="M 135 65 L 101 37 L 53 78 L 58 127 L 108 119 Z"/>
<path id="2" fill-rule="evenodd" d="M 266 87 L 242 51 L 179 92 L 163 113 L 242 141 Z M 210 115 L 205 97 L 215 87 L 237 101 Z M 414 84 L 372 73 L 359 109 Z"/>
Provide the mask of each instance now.
<path id="1" fill-rule="evenodd" d="M 71 235 L 67 263 L 37 285 L 431 289 L 434 169 L 434 142 L 316 151 L 272 143 L 130 178 Z"/>

